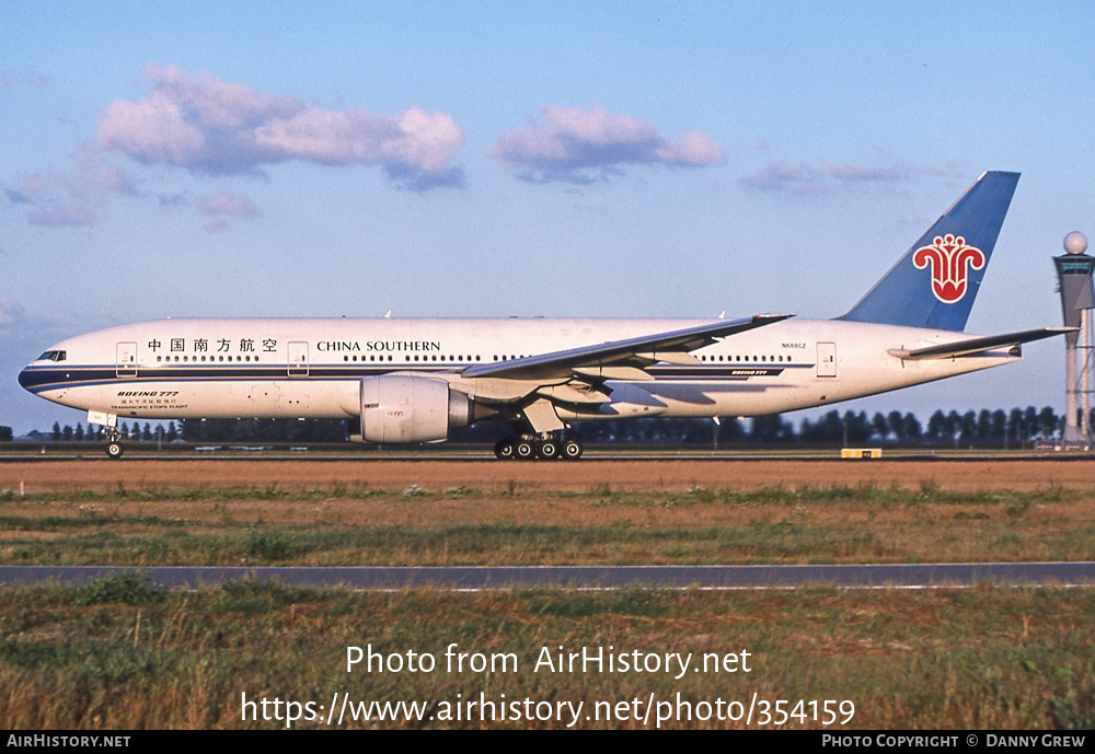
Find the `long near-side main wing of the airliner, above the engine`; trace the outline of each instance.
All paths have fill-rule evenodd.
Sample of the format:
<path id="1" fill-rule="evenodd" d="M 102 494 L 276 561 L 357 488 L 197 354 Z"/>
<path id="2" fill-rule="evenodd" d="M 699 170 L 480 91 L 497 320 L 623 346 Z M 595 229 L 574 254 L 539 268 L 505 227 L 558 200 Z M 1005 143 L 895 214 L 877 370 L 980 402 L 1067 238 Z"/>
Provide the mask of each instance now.
<path id="1" fill-rule="evenodd" d="M 668 333 L 643 335 L 625 340 L 611 340 L 595 346 L 581 346 L 553 353 L 539 353 L 509 361 L 475 364 L 461 376 L 509 380 L 553 380 L 569 378 L 575 372 L 601 379 L 652 379 L 644 367 L 658 361 L 695 363 L 689 351 L 711 345 L 718 338 L 744 333 L 786 320 L 789 314 L 758 314 L 742 320 L 719 320 L 706 325 Z"/>

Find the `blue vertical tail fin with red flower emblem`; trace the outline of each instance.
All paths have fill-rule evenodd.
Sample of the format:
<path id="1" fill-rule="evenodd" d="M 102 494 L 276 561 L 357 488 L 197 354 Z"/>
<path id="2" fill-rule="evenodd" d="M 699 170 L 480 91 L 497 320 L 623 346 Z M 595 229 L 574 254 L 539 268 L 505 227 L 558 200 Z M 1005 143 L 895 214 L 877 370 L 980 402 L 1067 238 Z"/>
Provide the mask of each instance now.
<path id="1" fill-rule="evenodd" d="M 1018 173 L 984 173 L 841 320 L 961 330 Z"/>

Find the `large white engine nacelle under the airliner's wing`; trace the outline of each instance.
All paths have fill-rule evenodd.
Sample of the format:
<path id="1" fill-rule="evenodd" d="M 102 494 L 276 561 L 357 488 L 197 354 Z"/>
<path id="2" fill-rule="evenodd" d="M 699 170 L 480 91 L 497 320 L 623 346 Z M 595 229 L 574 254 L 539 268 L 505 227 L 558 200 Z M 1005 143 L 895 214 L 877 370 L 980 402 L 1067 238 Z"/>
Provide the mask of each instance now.
<path id="1" fill-rule="evenodd" d="M 472 402 L 443 380 L 384 374 L 361 380 L 361 438 L 433 442 L 472 420 Z"/>

